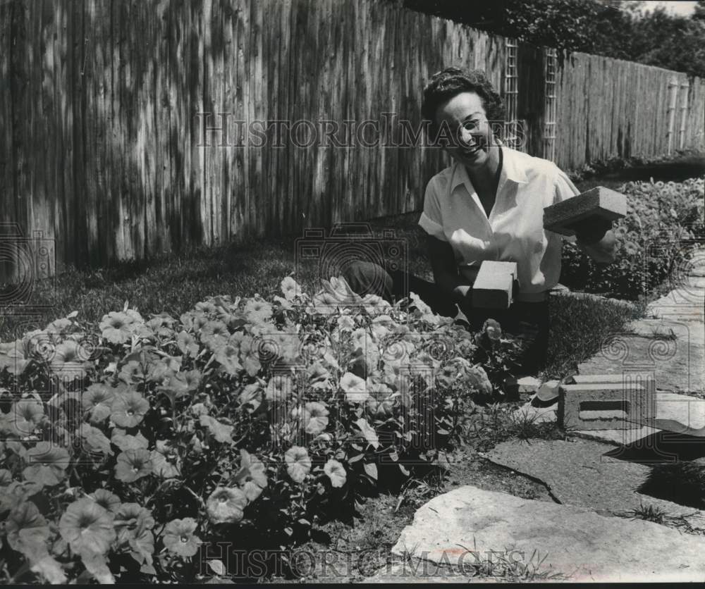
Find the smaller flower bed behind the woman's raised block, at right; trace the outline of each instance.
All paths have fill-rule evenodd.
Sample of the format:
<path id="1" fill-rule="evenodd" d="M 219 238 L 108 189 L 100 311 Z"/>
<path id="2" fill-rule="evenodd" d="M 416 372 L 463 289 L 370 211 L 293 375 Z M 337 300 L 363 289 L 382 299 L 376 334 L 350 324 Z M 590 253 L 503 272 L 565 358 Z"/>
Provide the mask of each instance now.
<path id="1" fill-rule="evenodd" d="M 628 182 L 627 216 L 615 223 L 615 263 L 599 266 L 573 244 L 563 248 L 561 282 L 580 290 L 638 299 L 687 263 L 694 240 L 705 235 L 705 179 Z"/>

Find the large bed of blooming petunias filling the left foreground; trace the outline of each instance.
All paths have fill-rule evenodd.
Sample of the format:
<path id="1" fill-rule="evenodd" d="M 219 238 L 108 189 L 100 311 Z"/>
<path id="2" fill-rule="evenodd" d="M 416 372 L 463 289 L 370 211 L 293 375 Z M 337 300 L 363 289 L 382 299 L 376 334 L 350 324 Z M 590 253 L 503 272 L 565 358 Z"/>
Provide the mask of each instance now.
<path id="1" fill-rule="evenodd" d="M 522 347 L 413 295 L 282 290 L 178 319 L 125 303 L 0 344 L 5 583 L 195 581 L 228 573 L 223 545 L 281 559 L 356 497 L 433 468 Z"/>

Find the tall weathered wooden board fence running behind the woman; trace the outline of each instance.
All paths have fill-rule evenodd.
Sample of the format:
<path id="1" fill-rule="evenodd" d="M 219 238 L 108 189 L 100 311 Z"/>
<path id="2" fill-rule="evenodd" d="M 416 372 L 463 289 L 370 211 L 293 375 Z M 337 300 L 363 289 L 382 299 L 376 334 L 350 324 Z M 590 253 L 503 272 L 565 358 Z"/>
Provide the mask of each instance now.
<path id="1" fill-rule="evenodd" d="M 3 252 L 38 230 L 61 270 L 417 211 L 446 158 L 398 121 L 419 128 L 450 63 L 509 91 L 523 149 L 565 169 L 705 147 L 702 80 L 513 54 L 379 0 L 0 1 Z"/>

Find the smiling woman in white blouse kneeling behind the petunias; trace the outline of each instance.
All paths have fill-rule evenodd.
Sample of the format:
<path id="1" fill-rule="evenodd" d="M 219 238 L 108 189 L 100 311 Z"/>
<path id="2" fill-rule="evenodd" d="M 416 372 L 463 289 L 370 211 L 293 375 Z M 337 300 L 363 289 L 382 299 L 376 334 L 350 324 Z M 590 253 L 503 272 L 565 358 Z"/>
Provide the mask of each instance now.
<path id="1" fill-rule="evenodd" d="M 548 344 L 548 291 L 560 276 L 563 237 L 544 230 L 544 207 L 579 191 L 551 161 L 503 147 L 491 123 L 503 120 L 503 104 L 480 71 L 446 68 L 424 88 L 422 113 L 431 137 L 453 164 L 426 187 L 419 225 L 428 234 L 434 272 L 431 284 L 404 271 L 387 272 L 372 263 L 350 266 L 345 278 L 364 294 L 380 285 L 388 300 L 404 297 L 405 285 L 436 313 L 455 316 L 456 304 L 472 325 L 496 318 L 512 332 L 533 331 L 525 368 L 545 363 Z M 600 263 L 614 260 L 615 237 L 608 221 L 577 227 L 576 243 Z M 484 260 L 517 263 L 518 292 L 508 311 L 472 309 L 472 283 Z"/>

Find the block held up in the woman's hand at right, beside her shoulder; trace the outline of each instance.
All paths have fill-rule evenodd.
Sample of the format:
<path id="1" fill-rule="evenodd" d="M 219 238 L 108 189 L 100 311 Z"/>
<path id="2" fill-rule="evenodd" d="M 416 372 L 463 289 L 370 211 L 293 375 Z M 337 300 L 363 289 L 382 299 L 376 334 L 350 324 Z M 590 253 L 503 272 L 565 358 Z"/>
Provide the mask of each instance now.
<path id="1" fill-rule="evenodd" d="M 575 235 L 573 225 L 591 217 L 615 221 L 627 214 L 627 197 L 603 186 L 596 186 L 577 197 L 547 206 L 544 228 L 561 235 Z"/>

